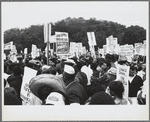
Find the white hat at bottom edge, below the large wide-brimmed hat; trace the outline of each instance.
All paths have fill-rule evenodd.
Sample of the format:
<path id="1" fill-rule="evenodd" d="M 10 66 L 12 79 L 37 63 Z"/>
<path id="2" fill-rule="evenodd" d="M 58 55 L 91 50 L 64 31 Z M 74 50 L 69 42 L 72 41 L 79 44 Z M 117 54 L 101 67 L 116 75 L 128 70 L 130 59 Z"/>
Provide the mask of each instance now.
<path id="1" fill-rule="evenodd" d="M 65 100 L 65 98 L 63 97 L 62 94 L 60 94 L 58 92 L 52 92 L 46 98 L 45 104 L 46 105 L 48 105 L 48 104 L 50 104 L 50 105 L 65 105 L 64 100 Z"/>

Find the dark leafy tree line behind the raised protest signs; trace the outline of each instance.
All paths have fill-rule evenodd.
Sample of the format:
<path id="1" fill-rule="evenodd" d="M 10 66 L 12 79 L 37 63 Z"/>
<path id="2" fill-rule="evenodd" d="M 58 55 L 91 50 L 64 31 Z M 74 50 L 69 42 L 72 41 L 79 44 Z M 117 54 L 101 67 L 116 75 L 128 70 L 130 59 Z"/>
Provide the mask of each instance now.
<path id="1" fill-rule="evenodd" d="M 32 44 L 44 50 L 46 44 L 44 43 L 43 28 L 44 25 L 32 25 L 25 29 L 9 29 L 4 32 L 4 43 L 13 41 L 18 52 L 21 50 L 23 51 L 24 48 L 28 48 L 28 52 L 31 52 Z M 95 49 L 97 49 L 97 47 L 102 48 L 103 45 L 106 44 L 106 38 L 110 35 L 118 38 L 118 43 L 120 45 L 140 43 L 146 40 L 146 30 L 143 27 L 138 25 L 126 27 L 116 22 L 96 20 L 96 18 L 85 20 L 82 17 L 68 17 L 51 23 L 52 35 L 54 35 L 56 31 L 67 32 L 70 42 L 82 42 L 83 46 L 86 46 L 87 49 L 89 49 L 87 32 L 95 33 L 97 42 Z"/>

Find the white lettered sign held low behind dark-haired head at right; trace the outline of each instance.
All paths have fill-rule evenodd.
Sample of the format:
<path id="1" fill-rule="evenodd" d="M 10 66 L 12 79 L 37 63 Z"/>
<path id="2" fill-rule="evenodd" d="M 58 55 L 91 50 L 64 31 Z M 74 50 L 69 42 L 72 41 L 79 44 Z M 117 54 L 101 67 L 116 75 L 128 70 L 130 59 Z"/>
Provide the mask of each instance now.
<path id="1" fill-rule="evenodd" d="M 117 78 L 116 80 L 119 80 L 123 83 L 124 86 L 124 98 L 128 98 L 128 80 L 129 80 L 129 66 L 124 65 L 117 65 Z"/>

